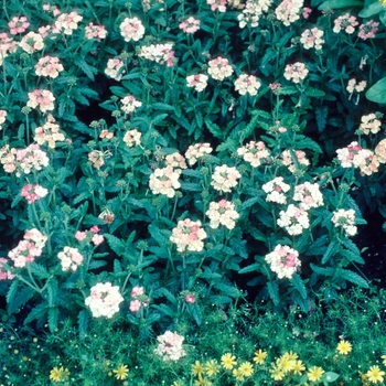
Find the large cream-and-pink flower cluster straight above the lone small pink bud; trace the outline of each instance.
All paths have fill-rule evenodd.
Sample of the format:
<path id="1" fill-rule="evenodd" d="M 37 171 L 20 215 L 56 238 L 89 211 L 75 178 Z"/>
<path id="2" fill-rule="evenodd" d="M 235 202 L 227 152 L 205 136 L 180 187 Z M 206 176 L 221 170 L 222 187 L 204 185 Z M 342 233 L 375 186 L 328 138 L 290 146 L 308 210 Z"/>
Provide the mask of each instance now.
<path id="1" fill-rule="evenodd" d="M 190 218 L 180 219 L 170 236 L 178 251 L 201 251 L 204 248 L 204 238 L 206 238 L 206 232 L 201 228 L 201 222 L 193 222 Z"/>

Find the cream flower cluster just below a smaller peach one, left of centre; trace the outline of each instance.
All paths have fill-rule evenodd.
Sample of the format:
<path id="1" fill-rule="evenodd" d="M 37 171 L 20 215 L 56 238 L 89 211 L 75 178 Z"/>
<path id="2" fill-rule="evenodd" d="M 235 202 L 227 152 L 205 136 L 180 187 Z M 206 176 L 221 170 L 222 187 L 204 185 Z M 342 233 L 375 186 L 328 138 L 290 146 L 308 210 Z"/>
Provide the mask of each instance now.
<path id="1" fill-rule="evenodd" d="M 172 199 L 175 195 L 175 190 L 181 187 L 180 174 L 172 167 L 156 169 L 150 175 L 149 187 L 153 194 L 164 194 Z"/>

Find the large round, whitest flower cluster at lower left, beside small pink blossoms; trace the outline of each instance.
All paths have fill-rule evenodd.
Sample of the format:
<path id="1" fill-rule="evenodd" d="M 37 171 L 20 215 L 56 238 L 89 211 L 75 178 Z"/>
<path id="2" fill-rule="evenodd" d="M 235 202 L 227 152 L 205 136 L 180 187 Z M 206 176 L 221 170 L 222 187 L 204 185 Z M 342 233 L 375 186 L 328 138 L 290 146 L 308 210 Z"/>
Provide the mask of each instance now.
<path id="1" fill-rule="evenodd" d="M 110 282 L 99 282 L 90 288 L 90 296 L 85 299 L 85 304 L 89 307 L 94 318 L 111 319 L 119 312 L 119 304 L 122 301 L 124 298 L 119 293 L 118 286 L 111 286 Z"/>

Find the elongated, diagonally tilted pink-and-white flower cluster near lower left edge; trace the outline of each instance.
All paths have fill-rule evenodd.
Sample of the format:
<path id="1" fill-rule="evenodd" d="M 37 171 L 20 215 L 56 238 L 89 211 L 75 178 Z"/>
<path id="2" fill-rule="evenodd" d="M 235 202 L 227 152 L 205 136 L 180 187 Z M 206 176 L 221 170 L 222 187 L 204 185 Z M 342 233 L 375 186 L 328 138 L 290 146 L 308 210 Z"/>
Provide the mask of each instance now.
<path id="1" fill-rule="evenodd" d="M 14 267 L 23 268 L 26 262 L 32 262 L 42 255 L 46 240 L 47 236 L 36 228 L 26 230 L 18 246 L 8 253 L 8 257 L 13 261 Z"/>

